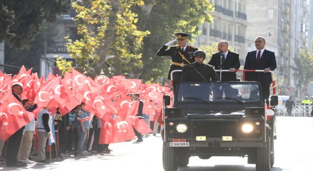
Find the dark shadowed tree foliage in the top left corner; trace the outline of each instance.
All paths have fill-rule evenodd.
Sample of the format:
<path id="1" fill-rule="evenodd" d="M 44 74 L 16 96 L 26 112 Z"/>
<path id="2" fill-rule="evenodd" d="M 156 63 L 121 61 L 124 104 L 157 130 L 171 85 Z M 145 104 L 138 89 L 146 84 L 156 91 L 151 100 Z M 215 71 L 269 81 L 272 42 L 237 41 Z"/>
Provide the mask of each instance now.
<path id="1" fill-rule="evenodd" d="M 70 0 L 1 0 L 0 42 L 22 47 L 42 29 L 43 21 L 55 21 L 69 7 Z"/>

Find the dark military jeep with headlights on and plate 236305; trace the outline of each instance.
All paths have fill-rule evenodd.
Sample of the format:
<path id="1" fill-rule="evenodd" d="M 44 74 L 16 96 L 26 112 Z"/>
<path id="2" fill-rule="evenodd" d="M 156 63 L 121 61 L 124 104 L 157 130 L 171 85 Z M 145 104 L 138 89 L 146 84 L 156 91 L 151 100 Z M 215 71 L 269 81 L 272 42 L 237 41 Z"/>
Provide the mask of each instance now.
<path id="1" fill-rule="evenodd" d="M 258 82 L 181 82 L 164 96 L 163 168 L 177 171 L 189 157 L 248 157 L 257 171 L 274 164 L 275 114 Z M 277 105 L 271 96 L 270 105 Z"/>

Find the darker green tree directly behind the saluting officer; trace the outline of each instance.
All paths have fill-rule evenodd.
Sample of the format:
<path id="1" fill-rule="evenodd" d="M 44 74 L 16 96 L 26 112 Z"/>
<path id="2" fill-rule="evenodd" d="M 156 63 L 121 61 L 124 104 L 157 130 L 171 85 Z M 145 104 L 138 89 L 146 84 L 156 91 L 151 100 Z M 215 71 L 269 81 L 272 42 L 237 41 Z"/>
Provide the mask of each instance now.
<path id="1" fill-rule="evenodd" d="M 133 8 L 138 13 L 139 30 L 151 32 L 140 49 L 143 67 L 134 71 L 138 78 L 148 82 L 167 78 L 171 60 L 156 56 L 162 44 L 175 39 L 176 32 L 198 35 L 198 26 L 204 21 L 212 22 L 209 12 L 214 11 L 209 0 L 144 0 L 144 4 Z M 192 40 L 189 39 L 189 43 Z"/>

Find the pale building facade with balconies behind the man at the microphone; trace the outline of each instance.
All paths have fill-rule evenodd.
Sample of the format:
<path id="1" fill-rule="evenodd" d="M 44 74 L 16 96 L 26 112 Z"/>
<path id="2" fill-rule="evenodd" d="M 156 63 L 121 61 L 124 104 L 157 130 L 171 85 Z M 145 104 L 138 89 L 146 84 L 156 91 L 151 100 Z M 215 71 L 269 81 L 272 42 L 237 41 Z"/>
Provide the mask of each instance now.
<path id="1" fill-rule="evenodd" d="M 222 40 L 227 41 L 240 54 L 241 62 L 246 56 L 246 0 L 212 0 L 215 12 L 213 23 L 204 22 L 199 26 L 201 35 L 195 37 L 195 45 L 211 46 Z"/>

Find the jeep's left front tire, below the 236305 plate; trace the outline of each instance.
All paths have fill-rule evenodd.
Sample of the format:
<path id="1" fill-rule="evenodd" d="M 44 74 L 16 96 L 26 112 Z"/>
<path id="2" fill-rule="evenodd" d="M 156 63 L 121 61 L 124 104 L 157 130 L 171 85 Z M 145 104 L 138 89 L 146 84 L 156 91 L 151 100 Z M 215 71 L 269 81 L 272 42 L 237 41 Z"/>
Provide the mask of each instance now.
<path id="1" fill-rule="evenodd" d="M 163 169 L 164 171 L 177 171 L 178 159 L 176 149 L 173 147 L 166 147 L 165 142 L 163 142 Z M 189 161 L 189 158 L 188 158 Z"/>

